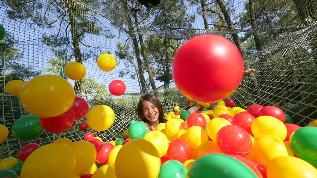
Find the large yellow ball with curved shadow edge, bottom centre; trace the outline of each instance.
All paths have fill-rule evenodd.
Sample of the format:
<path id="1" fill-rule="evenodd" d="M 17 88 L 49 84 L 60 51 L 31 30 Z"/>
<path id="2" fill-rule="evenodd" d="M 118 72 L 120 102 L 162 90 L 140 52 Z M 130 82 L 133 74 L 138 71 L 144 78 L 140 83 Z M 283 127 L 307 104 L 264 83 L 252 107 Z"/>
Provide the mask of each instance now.
<path id="1" fill-rule="evenodd" d="M 156 178 L 160 166 L 159 152 L 153 144 L 144 139 L 133 139 L 120 149 L 114 167 L 118 178 Z"/>

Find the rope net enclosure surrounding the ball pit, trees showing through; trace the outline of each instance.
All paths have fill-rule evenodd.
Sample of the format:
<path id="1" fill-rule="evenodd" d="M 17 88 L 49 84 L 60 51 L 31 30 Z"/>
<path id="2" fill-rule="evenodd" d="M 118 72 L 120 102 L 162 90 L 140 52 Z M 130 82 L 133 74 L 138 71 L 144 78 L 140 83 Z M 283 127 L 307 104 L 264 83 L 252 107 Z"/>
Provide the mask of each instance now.
<path id="1" fill-rule="evenodd" d="M 78 141 L 88 131 L 103 142 L 122 137 L 129 122 L 138 119 L 136 105 L 145 92 L 158 96 L 166 112 L 175 105 L 182 111 L 188 99 L 171 78 L 171 61 L 187 39 L 200 34 L 228 38 L 242 52 L 245 67 L 255 69 L 230 96 L 236 106 L 275 105 L 299 125 L 317 118 L 316 1 L 161 0 L 149 11 L 144 4 L 134 12 L 139 2 L 133 0 L 0 1 L 0 24 L 7 32 L 0 41 L 0 124 L 9 129 L 9 137 L 0 144 L 0 160 L 17 156 L 27 143 L 44 145 L 61 137 Z M 111 72 L 96 64 L 103 53 L 117 60 Z M 70 61 L 86 68 L 84 79 L 68 79 L 76 95 L 86 99 L 89 108 L 110 106 L 116 115 L 112 127 L 81 131 L 83 118 L 62 133 L 15 139 L 12 125 L 29 113 L 18 97 L 4 91 L 5 84 L 42 74 L 67 79 L 64 67 Z M 120 97 L 108 92 L 114 79 L 126 84 Z"/>

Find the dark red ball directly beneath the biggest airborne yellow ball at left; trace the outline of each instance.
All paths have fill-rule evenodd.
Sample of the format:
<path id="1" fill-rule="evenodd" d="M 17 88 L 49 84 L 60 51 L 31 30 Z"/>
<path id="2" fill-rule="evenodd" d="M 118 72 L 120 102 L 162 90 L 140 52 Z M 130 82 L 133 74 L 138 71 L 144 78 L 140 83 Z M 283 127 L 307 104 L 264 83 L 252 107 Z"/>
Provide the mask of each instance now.
<path id="1" fill-rule="evenodd" d="M 41 127 L 52 133 L 59 133 L 70 128 L 75 122 L 75 113 L 69 109 L 59 116 L 52 118 L 40 118 Z"/>

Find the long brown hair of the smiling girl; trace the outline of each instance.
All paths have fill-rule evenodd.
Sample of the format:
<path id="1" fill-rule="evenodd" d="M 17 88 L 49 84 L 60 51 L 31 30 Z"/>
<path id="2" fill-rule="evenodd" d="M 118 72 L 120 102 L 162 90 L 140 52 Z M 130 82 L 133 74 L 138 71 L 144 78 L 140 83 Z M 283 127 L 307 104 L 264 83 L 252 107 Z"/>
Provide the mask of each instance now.
<path id="1" fill-rule="evenodd" d="M 141 96 L 139 104 L 137 106 L 137 115 L 140 117 L 141 121 L 148 123 L 148 120 L 143 114 L 143 101 L 149 101 L 153 105 L 155 105 L 156 108 L 159 110 L 159 123 L 166 123 L 167 120 L 164 118 L 164 106 L 155 95 L 152 95 L 150 93 L 146 93 Z"/>

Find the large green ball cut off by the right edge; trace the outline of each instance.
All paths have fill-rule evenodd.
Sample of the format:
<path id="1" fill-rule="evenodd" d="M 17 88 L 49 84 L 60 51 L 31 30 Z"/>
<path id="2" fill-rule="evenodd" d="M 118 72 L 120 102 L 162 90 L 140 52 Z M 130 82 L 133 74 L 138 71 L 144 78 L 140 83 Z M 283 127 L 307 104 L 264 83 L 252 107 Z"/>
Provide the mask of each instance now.
<path id="1" fill-rule="evenodd" d="M 302 127 L 289 137 L 294 153 L 304 161 L 317 166 L 317 127 Z"/>

